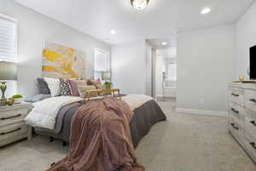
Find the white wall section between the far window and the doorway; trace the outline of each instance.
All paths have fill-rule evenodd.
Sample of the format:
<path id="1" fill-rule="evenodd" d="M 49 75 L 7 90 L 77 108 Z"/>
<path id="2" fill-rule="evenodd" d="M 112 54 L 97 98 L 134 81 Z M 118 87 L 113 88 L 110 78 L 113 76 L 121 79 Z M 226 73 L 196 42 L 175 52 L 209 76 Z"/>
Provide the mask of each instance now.
<path id="1" fill-rule="evenodd" d="M 113 86 L 125 94 L 146 93 L 145 41 L 112 47 Z"/>

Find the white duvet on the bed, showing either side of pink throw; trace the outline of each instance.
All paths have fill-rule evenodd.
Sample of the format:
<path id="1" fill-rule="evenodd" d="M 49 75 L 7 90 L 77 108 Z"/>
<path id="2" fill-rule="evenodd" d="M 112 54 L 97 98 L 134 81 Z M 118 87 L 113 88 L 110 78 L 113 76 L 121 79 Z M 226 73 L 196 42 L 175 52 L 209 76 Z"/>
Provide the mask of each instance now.
<path id="1" fill-rule="evenodd" d="M 80 97 L 58 96 L 39 101 L 33 104 L 34 108 L 25 118 L 25 121 L 32 127 L 54 129 L 55 119 L 61 107 L 82 100 L 83 99 Z M 153 100 L 153 98 L 147 95 L 129 94 L 122 97 L 122 100 L 124 100 L 133 111 L 147 101 Z"/>

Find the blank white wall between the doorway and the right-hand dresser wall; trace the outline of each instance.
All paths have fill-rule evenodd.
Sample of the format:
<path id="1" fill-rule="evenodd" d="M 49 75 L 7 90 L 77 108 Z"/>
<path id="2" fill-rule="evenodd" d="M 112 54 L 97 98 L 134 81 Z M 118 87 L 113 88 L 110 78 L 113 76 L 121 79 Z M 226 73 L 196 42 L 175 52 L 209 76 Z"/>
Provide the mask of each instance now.
<path id="1" fill-rule="evenodd" d="M 177 107 L 227 111 L 234 73 L 235 26 L 177 35 Z"/>

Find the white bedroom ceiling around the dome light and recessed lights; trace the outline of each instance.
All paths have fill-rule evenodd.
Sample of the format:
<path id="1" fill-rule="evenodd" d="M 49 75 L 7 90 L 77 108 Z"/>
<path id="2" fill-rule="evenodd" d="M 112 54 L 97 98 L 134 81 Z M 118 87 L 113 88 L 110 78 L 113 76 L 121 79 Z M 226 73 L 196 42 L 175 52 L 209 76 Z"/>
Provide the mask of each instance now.
<path id="1" fill-rule="evenodd" d="M 165 38 L 180 31 L 235 22 L 254 0 L 150 0 L 137 11 L 130 0 L 15 0 L 106 43 Z M 212 13 L 200 14 L 204 7 Z M 111 35 L 110 30 L 117 33 Z"/>

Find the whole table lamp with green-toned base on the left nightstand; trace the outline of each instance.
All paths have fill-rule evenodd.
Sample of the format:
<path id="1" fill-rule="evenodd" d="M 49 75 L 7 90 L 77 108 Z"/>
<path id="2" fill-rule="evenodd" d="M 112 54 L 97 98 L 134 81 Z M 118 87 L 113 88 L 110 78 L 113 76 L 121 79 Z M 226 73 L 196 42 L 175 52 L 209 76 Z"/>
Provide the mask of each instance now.
<path id="1" fill-rule="evenodd" d="M 2 91 L 0 105 L 5 105 L 6 103 L 6 97 L 4 93 L 7 89 L 7 80 L 17 80 L 17 64 L 13 62 L 0 61 L 0 89 Z"/>

